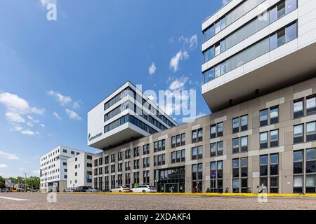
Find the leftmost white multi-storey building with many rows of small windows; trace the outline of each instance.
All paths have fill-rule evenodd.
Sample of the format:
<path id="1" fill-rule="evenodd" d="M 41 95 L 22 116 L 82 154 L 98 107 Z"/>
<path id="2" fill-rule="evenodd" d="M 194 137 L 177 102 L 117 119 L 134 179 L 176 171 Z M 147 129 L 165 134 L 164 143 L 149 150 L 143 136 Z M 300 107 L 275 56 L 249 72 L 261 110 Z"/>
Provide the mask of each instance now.
<path id="1" fill-rule="evenodd" d="M 58 146 L 42 156 L 40 163 L 41 192 L 67 189 L 67 159 L 83 153 L 74 148 Z"/>

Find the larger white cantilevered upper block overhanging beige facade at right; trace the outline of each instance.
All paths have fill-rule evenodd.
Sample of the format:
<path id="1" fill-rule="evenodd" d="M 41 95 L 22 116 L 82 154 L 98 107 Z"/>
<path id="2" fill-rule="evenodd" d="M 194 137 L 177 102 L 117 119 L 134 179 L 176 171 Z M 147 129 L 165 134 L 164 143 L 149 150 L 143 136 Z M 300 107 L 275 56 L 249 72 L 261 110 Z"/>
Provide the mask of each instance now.
<path id="1" fill-rule="evenodd" d="M 314 0 L 232 0 L 202 24 L 202 94 L 215 112 L 315 76 Z"/>

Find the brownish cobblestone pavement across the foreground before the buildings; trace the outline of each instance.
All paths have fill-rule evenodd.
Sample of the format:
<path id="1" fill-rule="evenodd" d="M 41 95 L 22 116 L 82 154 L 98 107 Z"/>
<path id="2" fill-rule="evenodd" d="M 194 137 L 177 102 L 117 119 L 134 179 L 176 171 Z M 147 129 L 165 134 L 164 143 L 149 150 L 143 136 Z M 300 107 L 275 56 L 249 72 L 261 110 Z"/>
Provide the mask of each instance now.
<path id="1" fill-rule="evenodd" d="M 4 198 L 11 197 L 11 199 Z M 191 195 L 103 195 L 57 194 L 48 203 L 46 193 L 0 193 L 3 209 L 114 209 L 114 210 L 225 210 L 225 209 L 315 209 L 316 198 L 269 197 L 258 203 L 256 197 L 205 197 Z M 15 199 L 25 199 L 16 201 Z"/>

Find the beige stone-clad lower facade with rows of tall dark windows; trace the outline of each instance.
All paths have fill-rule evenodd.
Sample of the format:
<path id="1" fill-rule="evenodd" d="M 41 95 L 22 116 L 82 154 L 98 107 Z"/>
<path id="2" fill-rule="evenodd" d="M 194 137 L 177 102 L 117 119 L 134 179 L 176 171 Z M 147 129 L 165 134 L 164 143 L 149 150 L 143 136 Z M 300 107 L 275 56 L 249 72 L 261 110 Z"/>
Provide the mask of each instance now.
<path id="1" fill-rule="evenodd" d="M 315 190 L 316 175 L 315 168 L 313 168 L 315 167 L 315 161 L 308 158 L 308 162 L 306 162 L 306 150 L 316 148 L 316 141 L 308 141 L 306 137 L 306 128 L 307 124 L 309 124 L 308 127 L 311 127 L 313 123 L 316 123 L 316 113 L 306 113 L 306 106 L 308 105 L 306 100 L 310 99 L 309 97 L 314 97 L 315 94 L 316 78 L 312 78 L 282 90 L 266 94 L 262 97 L 256 97 L 243 102 L 242 104 L 231 106 L 222 111 L 212 113 L 211 115 L 198 118 L 193 123 L 178 125 L 169 130 L 164 130 L 157 134 L 152 134 L 149 137 L 131 141 L 121 146 L 106 150 L 103 153 L 93 155 L 93 186 L 102 188 L 103 190 L 119 185 L 129 185 L 130 187 L 133 187 L 133 184 L 135 184 L 134 173 L 139 172 L 139 181 L 137 181 L 137 184 L 143 184 L 144 172 L 149 171 L 149 181 L 148 179 L 145 179 L 145 182 L 156 186 L 158 191 L 167 192 L 171 186 L 173 186 L 175 189 L 174 191 L 187 193 L 197 191 L 206 192 L 208 188 L 211 191 L 220 192 L 227 191 L 231 193 L 233 191 L 251 191 L 255 193 L 257 187 L 264 184 L 265 186 L 268 186 L 268 192 L 270 193 L 293 193 L 294 191 L 299 192 L 300 190 L 302 193 L 305 193 L 306 190 L 308 192 L 313 192 L 313 190 Z M 303 99 L 304 113 L 301 118 L 294 119 L 294 101 L 297 99 Z M 278 109 L 277 113 L 273 111 L 275 108 Z M 261 111 L 265 109 L 268 109 L 268 124 L 261 127 Z M 270 124 L 272 118 L 270 114 L 273 114 L 273 118 L 277 118 L 277 121 L 274 120 L 276 123 L 272 125 Z M 277 117 L 275 117 L 276 115 Z M 247 116 L 246 130 L 241 130 L 242 120 L 239 119 L 239 132 L 233 133 L 232 120 L 234 118 L 241 118 L 242 116 Z M 211 138 L 211 126 L 218 123 L 223 123 L 223 136 Z M 303 142 L 294 144 L 294 126 L 301 124 L 303 124 L 304 130 Z M 192 131 L 200 129 L 202 129 L 202 141 L 197 143 L 192 142 Z M 264 147 L 265 141 L 262 141 L 263 147 L 261 147 L 261 139 L 265 139 L 265 133 L 267 133 L 268 136 L 267 147 Z M 270 136 L 272 133 L 273 136 Z M 271 144 L 270 139 L 275 139 L 275 133 L 277 133 L 277 141 L 274 141 L 273 144 Z M 171 147 L 171 138 L 181 134 L 185 134 L 185 144 L 175 148 Z M 242 137 L 246 137 L 244 139 L 247 139 L 247 148 L 244 152 L 242 152 L 241 147 L 242 140 L 240 138 Z M 239 138 L 239 153 L 232 153 L 233 139 L 237 138 Z M 155 142 L 162 140 L 165 141 L 165 149 L 154 152 Z M 211 144 L 218 142 L 223 142 L 223 155 L 211 156 Z M 144 155 L 143 146 L 147 144 L 150 146 L 150 152 L 149 154 Z M 192 148 L 199 146 L 202 146 L 202 158 L 198 158 L 199 156 L 197 155 L 197 159 L 192 159 Z M 140 155 L 134 157 L 134 148 L 137 147 L 140 147 Z M 126 151 L 129 149 L 131 150 L 131 156 L 129 158 L 129 153 L 127 153 L 126 158 Z M 171 161 L 171 153 L 176 151 L 181 152 L 183 150 L 185 150 L 184 162 L 181 162 L 180 158 L 180 162 L 173 163 Z M 245 148 L 243 148 L 243 150 L 245 150 Z M 303 173 L 295 174 L 295 181 L 294 151 L 303 151 Z M 308 152 L 310 153 L 312 151 Z M 122 160 L 118 160 L 118 153 L 122 154 Z M 162 156 L 162 154 L 164 154 L 164 156 Z M 115 155 L 115 162 L 111 162 L 111 155 Z M 164 165 L 154 166 L 154 157 L 158 157 L 159 155 L 160 158 L 164 158 Z M 265 155 L 267 155 L 267 157 L 265 157 Z M 105 164 L 107 156 L 108 162 Z M 102 161 L 99 161 L 100 158 L 102 158 Z M 144 158 L 150 158 L 149 167 L 144 167 Z M 247 159 L 241 160 L 242 158 Z M 240 160 L 239 162 L 236 162 L 237 160 L 235 159 Z M 139 168 L 136 166 L 136 169 L 134 169 L 134 160 L 139 160 Z M 235 173 L 233 171 L 233 160 L 235 160 L 236 167 L 237 163 L 239 163 L 238 168 L 235 168 Z M 268 164 L 266 165 L 266 175 L 264 172 L 265 160 L 268 160 Z M 216 169 L 215 172 L 211 171 L 212 162 L 216 162 L 215 165 L 219 168 Z M 312 165 L 313 162 L 314 165 Z M 118 169 L 120 163 L 122 164 L 121 170 Z M 311 167 L 311 169 L 308 170 L 308 174 L 306 174 L 306 169 L 308 168 L 307 163 L 308 167 Z M 126 170 L 126 165 L 130 166 L 130 170 Z M 195 165 L 200 166 L 195 167 Z M 115 170 L 111 170 L 113 166 Z M 220 169 L 222 166 L 223 176 L 220 175 L 222 173 Z M 182 176 L 178 173 L 156 173 L 157 170 L 173 169 L 176 167 L 184 167 L 185 174 L 182 174 L 184 179 L 182 179 Z M 198 172 L 201 168 L 202 174 Z M 106 172 L 106 169 L 108 170 L 108 173 Z M 192 174 L 192 169 L 197 169 L 197 172 L 195 172 L 197 178 L 195 178 L 195 174 Z M 237 177 L 236 175 L 235 177 L 234 174 L 236 174 L 237 170 L 239 170 L 239 176 Z M 244 176 L 242 176 L 243 172 Z M 126 174 L 130 174 L 130 184 L 126 184 Z M 111 182 L 112 176 L 114 176 L 115 179 Z M 159 178 L 159 176 L 162 177 Z M 121 179 L 118 179 L 118 177 L 121 177 Z M 215 179 L 213 179 L 213 177 L 215 177 Z M 192 180 L 192 178 L 195 180 Z M 312 180 L 314 180 L 314 183 L 312 183 Z M 177 181 L 180 181 L 181 184 L 179 185 Z M 185 183 L 185 185 L 182 183 Z M 215 185 L 213 188 L 211 187 L 212 183 Z M 312 186 L 313 184 L 314 186 Z M 296 187 L 296 190 L 294 190 L 294 186 Z M 181 190 L 181 188 L 183 190 Z"/>

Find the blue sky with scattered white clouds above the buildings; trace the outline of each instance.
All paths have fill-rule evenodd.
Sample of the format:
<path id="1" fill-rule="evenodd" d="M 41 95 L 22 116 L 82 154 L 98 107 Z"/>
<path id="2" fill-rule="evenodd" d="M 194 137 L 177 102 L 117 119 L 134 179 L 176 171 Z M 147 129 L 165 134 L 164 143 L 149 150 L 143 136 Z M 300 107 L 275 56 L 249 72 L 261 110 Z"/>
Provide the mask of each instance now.
<path id="1" fill-rule="evenodd" d="M 57 20 L 46 20 L 46 3 Z M 201 94 L 202 21 L 222 0 L 12 0 L 0 7 L 0 175 L 37 175 L 39 157 L 86 146 L 86 113 L 126 80 Z M 176 117 L 181 123 L 181 117 Z"/>

